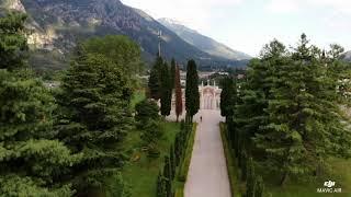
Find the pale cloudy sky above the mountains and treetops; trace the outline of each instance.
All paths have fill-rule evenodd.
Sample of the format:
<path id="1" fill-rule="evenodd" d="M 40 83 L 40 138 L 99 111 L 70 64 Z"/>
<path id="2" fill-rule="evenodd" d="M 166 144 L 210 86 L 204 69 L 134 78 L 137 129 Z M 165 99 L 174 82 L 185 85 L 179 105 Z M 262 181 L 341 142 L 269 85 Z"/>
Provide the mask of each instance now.
<path id="1" fill-rule="evenodd" d="M 178 20 L 233 49 L 256 56 L 273 38 L 294 45 L 302 33 L 327 48 L 351 50 L 351 0 L 122 0 L 155 19 Z"/>

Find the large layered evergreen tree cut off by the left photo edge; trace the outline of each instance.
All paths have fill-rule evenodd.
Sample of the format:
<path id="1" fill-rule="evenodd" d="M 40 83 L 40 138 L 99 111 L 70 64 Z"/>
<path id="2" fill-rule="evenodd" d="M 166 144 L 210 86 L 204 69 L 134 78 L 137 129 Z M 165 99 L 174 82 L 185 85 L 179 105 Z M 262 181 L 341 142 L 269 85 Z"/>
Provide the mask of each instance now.
<path id="1" fill-rule="evenodd" d="M 54 139 L 54 99 L 22 69 L 25 19 L 15 13 L 0 19 L 0 194 L 68 197 L 73 190 L 60 178 L 80 154 Z"/>

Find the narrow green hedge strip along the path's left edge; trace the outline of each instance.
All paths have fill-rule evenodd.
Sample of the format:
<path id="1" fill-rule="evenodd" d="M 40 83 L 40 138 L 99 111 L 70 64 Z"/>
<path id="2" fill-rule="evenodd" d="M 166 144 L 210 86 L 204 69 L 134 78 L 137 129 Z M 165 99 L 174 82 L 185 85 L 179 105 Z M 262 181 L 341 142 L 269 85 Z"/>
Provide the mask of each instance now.
<path id="1" fill-rule="evenodd" d="M 188 177 L 191 157 L 193 154 L 193 148 L 194 148 L 195 136 L 196 136 L 196 127 L 197 127 L 197 124 L 194 124 L 192 128 L 192 132 L 190 134 L 189 140 L 186 142 L 186 149 L 184 151 L 183 161 L 181 162 L 181 165 L 177 169 L 178 176 L 174 183 L 176 197 L 184 196 L 184 186 Z"/>

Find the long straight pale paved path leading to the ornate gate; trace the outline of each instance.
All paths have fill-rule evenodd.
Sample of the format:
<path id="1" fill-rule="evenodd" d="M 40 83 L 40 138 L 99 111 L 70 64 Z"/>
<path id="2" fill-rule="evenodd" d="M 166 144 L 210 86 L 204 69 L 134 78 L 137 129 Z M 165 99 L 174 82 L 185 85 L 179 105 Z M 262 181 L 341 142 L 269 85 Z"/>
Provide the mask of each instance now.
<path id="1" fill-rule="evenodd" d="M 220 139 L 219 111 L 202 111 L 185 183 L 185 197 L 230 197 L 227 164 Z"/>

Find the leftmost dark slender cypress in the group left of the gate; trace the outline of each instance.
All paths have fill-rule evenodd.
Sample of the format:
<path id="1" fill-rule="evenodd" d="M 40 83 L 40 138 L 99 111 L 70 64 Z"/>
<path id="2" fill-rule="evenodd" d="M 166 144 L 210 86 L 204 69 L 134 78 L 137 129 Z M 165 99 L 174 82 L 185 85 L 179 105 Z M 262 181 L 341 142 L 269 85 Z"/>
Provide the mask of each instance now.
<path id="1" fill-rule="evenodd" d="M 154 67 L 150 71 L 150 77 L 148 81 L 149 88 L 149 97 L 154 100 L 159 100 L 161 96 L 161 79 L 160 72 L 163 66 L 163 59 L 161 57 L 157 57 Z"/>

